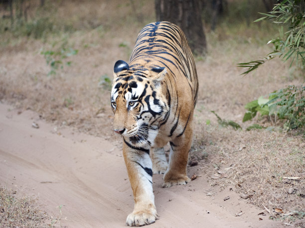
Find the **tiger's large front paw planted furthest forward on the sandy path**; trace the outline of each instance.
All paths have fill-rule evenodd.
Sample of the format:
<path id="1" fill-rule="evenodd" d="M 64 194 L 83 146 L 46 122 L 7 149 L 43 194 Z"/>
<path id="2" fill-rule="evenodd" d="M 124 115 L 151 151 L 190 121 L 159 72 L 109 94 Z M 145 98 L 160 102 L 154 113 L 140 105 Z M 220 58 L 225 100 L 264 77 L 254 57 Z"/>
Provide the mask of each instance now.
<path id="1" fill-rule="evenodd" d="M 126 220 L 126 225 L 130 227 L 142 227 L 155 222 L 158 219 L 156 211 L 139 211 L 131 213 Z"/>

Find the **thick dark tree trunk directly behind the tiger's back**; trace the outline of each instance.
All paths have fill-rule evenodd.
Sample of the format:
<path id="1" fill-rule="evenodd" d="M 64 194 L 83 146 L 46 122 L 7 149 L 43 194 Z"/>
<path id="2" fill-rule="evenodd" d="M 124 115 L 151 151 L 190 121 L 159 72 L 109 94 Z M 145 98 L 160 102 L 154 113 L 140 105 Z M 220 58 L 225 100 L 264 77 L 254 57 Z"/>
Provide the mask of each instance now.
<path id="1" fill-rule="evenodd" d="M 188 44 L 196 55 L 206 53 L 206 39 L 201 21 L 200 0 L 155 0 L 157 21 L 178 25 L 186 35 Z"/>

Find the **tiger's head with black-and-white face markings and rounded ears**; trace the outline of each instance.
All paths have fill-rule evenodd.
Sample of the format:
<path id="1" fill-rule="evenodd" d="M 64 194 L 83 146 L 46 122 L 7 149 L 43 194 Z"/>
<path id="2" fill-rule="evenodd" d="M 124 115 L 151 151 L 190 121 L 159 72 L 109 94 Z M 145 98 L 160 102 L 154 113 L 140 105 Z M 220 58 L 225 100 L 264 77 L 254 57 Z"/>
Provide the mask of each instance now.
<path id="1" fill-rule="evenodd" d="M 159 121 L 168 112 L 161 93 L 165 74 L 164 67 L 130 69 L 123 60 L 115 63 L 111 91 L 113 130 L 122 134 L 125 140 L 133 144 L 151 143 L 151 132 L 155 132 L 155 136 Z"/>

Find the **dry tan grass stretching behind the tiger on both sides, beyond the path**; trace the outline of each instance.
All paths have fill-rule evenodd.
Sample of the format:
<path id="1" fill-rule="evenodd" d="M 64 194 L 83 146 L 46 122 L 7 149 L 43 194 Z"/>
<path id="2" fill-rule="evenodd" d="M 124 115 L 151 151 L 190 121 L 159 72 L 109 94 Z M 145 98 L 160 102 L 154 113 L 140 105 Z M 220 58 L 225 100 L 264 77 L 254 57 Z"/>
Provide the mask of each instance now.
<path id="1" fill-rule="evenodd" d="M 135 13 L 131 2 L 138 5 Z M 129 1 L 126 5 L 106 0 L 78 4 L 61 1 L 56 17 L 73 26 L 73 32 L 61 31 L 43 40 L 7 37 L 6 45 L 1 45 L 0 100 L 20 111 L 34 110 L 58 126 L 72 126 L 116 143 L 111 131 L 109 88 L 99 83 L 101 76 L 112 78 L 113 64 L 118 59 L 129 59 L 138 31 L 154 20 L 153 11 L 152 1 Z M 242 69 L 236 67 L 237 63 L 257 59 L 272 50 L 266 46 L 273 38 L 268 35 L 270 31 L 275 29 L 268 24 L 248 26 L 245 22 L 234 26 L 221 24 L 215 32 L 206 34 L 208 55 L 196 58 L 200 88 L 190 157 L 204 159 L 200 165 L 206 167 L 205 173 L 214 183 L 235 185 L 236 191 L 250 196 L 249 202 L 266 207 L 272 218 L 281 217 L 274 212 L 274 208 L 280 208 L 283 214 L 298 211 L 292 218 L 302 219 L 304 138 L 277 126 L 271 131 L 244 130 L 257 121 L 273 126 L 273 122 L 260 117 L 242 123 L 248 102 L 304 82 L 304 72 L 289 68 L 289 63 L 280 59 L 264 64 L 251 75 L 240 76 Z M 64 42 L 79 52 L 69 57 L 70 67 L 47 76 L 50 67 L 40 49 L 60 48 Z M 221 127 L 210 111 L 239 123 L 243 130 Z M 213 165 L 222 172 L 231 168 L 220 175 Z M 291 215 L 282 218 L 291 222 L 287 221 Z"/>

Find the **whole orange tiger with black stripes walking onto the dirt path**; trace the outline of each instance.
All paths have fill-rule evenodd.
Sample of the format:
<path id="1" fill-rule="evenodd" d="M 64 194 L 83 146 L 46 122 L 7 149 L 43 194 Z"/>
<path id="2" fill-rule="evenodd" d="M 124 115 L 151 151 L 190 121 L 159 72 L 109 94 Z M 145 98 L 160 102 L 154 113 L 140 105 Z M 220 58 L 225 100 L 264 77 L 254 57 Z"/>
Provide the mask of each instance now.
<path id="1" fill-rule="evenodd" d="M 123 138 L 135 202 L 126 225 L 149 225 L 158 219 L 152 174 L 163 174 L 163 188 L 190 181 L 186 167 L 198 78 L 183 31 L 167 21 L 146 25 L 129 64 L 118 60 L 113 77 L 113 130 Z M 164 146 L 168 142 L 167 162 Z"/>

